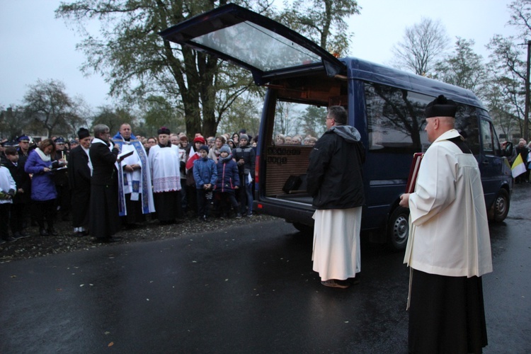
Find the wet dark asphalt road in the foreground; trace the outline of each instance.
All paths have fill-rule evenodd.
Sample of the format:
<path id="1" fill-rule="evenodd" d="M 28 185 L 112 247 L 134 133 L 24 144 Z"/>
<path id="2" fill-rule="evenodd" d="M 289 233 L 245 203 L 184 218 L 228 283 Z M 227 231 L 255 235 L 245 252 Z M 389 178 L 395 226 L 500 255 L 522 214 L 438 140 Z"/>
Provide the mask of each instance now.
<path id="1" fill-rule="evenodd" d="M 531 352 L 531 185 L 491 226 L 489 346 Z M 360 285 L 330 289 L 284 222 L 0 265 L 0 353 L 406 353 L 403 253 L 362 244 Z"/>

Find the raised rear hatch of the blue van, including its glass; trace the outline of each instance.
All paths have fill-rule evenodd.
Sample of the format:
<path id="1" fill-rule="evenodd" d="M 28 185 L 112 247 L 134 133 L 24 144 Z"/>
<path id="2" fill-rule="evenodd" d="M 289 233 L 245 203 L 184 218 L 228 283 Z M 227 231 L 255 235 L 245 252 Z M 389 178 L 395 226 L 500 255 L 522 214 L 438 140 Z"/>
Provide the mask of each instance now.
<path id="1" fill-rule="evenodd" d="M 202 13 L 159 35 L 249 69 L 258 85 L 312 67 L 324 68 L 328 76 L 346 74 L 345 64 L 316 43 L 235 4 Z"/>

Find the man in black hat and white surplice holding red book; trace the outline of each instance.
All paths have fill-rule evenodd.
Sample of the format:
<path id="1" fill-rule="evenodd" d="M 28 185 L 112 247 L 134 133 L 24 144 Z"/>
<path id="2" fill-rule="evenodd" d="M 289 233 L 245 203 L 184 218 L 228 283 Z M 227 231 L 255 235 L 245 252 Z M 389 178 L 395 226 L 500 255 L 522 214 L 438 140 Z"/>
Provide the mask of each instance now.
<path id="1" fill-rule="evenodd" d="M 401 195 L 410 226 L 409 353 L 481 353 L 487 345 L 481 275 L 492 271 L 479 167 L 454 129 L 457 103 L 426 106 L 432 144 L 415 191 Z"/>

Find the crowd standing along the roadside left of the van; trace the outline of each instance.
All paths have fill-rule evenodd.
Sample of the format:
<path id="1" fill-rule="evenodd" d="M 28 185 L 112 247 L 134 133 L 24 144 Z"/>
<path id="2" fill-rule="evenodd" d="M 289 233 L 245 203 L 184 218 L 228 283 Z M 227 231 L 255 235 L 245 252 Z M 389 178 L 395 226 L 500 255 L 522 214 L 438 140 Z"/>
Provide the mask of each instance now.
<path id="1" fill-rule="evenodd" d="M 185 217 L 252 217 L 256 142 L 246 130 L 188 143 L 184 133 L 161 127 L 156 137 L 135 136 L 124 123 L 110 136 L 106 125 L 77 139 L 27 135 L 2 142 L 0 244 L 57 235 L 55 223 L 72 222 L 74 236 L 119 241 L 122 227 L 147 218 L 175 224 Z M 11 233 L 10 233 L 11 230 Z"/>

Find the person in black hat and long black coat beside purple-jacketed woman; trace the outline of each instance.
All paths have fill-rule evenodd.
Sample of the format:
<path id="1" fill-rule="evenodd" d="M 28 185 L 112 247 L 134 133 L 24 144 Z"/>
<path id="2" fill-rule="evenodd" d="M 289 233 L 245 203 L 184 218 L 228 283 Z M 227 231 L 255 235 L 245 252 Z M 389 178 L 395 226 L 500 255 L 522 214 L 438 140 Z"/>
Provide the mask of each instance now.
<path id="1" fill-rule="evenodd" d="M 72 226 L 76 236 L 89 234 L 89 206 L 91 201 L 91 168 L 89 148 L 91 136 L 89 130 L 77 132 L 79 145 L 69 154 L 68 181 L 72 195 Z"/>

